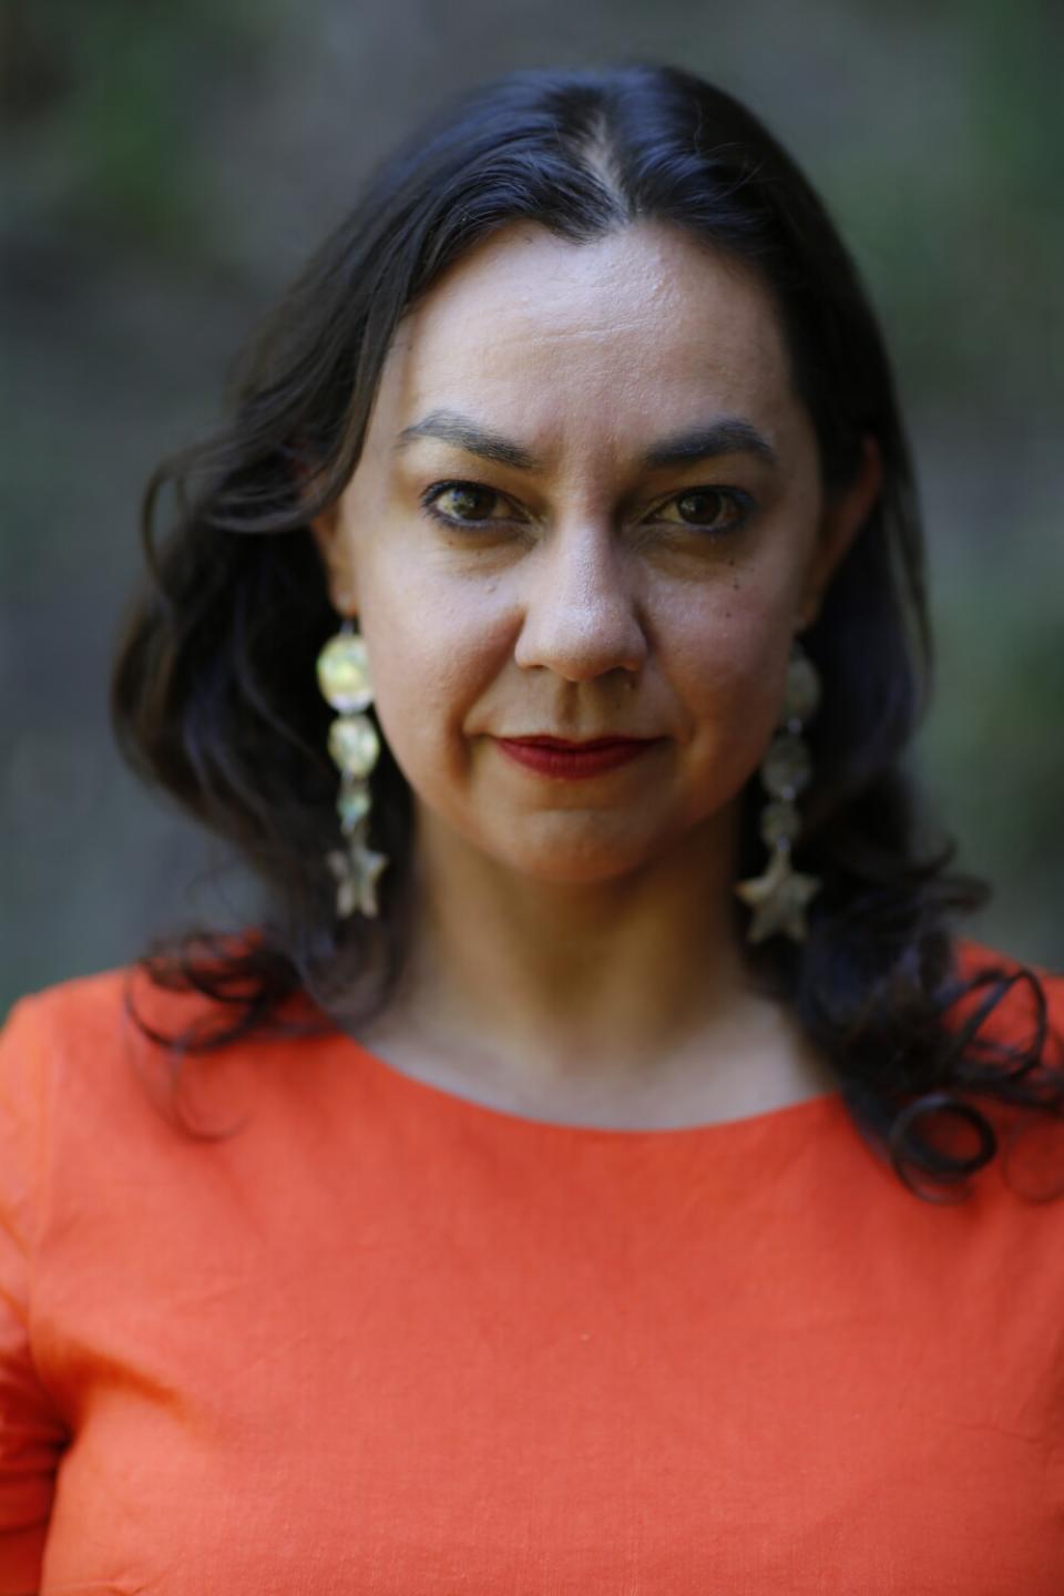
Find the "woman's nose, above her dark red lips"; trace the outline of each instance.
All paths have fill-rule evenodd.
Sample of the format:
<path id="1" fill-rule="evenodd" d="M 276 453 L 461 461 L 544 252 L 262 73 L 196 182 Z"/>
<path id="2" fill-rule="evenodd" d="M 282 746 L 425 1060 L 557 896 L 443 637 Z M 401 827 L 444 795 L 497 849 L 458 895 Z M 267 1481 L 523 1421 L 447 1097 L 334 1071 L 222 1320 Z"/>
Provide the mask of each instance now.
<path id="1" fill-rule="evenodd" d="M 648 642 L 633 562 L 608 527 L 558 528 L 526 563 L 517 664 L 589 681 L 609 670 L 636 674 Z"/>

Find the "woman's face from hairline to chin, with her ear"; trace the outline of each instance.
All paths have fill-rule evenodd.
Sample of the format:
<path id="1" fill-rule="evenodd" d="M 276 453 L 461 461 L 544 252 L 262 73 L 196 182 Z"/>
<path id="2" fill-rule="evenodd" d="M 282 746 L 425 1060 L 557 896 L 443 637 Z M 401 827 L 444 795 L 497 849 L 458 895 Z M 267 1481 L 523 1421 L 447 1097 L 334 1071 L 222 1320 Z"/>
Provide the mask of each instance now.
<path id="1" fill-rule="evenodd" d="M 405 319 L 316 523 L 420 832 L 542 881 L 732 835 L 794 632 L 877 488 L 825 509 L 769 290 L 684 233 L 514 223 Z M 589 779 L 499 739 L 651 739 Z"/>

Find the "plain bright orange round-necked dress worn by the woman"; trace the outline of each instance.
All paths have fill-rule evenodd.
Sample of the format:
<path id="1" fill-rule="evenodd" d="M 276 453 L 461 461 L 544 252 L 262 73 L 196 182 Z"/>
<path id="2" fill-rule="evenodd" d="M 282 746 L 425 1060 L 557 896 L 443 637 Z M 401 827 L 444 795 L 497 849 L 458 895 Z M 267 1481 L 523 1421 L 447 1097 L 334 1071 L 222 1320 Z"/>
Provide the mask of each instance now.
<path id="1" fill-rule="evenodd" d="M 1064 1202 L 1000 1160 L 932 1205 L 837 1095 L 554 1125 L 338 1034 L 190 1065 L 193 1141 L 152 1057 L 121 972 L 0 1039 L 0 1596 L 1064 1590 Z"/>

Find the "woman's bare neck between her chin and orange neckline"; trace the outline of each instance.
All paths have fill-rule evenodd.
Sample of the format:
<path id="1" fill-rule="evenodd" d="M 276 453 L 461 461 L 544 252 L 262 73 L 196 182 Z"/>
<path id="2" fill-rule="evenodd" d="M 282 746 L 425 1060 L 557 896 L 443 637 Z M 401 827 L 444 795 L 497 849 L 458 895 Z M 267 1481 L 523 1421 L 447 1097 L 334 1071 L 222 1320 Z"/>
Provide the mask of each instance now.
<path id="1" fill-rule="evenodd" d="M 404 1020 L 522 1079 L 633 1080 L 761 1002 L 734 932 L 735 816 L 622 879 L 518 876 L 439 819 L 418 824 Z"/>

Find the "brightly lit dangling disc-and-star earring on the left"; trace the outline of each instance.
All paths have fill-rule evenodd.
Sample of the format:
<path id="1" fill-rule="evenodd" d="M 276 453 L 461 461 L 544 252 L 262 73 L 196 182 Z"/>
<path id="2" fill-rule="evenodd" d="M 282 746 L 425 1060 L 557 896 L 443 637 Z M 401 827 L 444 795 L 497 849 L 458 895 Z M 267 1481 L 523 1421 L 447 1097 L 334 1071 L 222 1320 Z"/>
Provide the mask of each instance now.
<path id="1" fill-rule="evenodd" d="M 388 865 L 384 854 L 368 846 L 370 835 L 370 771 L 381 752 L 372 720 L 362 713 L 373 702 L 365 642 L 345 618 L 317 656 L 317 686 L 332 709 L 340 713 L 329 728 L 329 752 L 340 768 L 337 814 L 345 847 L 327 855 L 337 878 L 337 918 L 346 919 L 357 910 L 373 918 L 376 881 Z"/>

